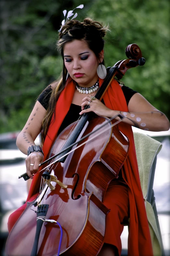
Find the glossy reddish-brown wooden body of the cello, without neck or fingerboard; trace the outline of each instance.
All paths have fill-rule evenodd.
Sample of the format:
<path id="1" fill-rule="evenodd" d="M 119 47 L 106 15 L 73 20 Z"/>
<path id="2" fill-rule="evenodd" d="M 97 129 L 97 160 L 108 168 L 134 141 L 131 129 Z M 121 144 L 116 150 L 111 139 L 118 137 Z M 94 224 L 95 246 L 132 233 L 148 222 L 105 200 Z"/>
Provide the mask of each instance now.
<path id="1" fill-rule="evenodd" d="M 95 117 L 88 122 L 79 138 L 107 122 L 108 118 Z M 55 140 L 50 156 L 58 152 L 74 123 Z M 97 139 L 70 153 L 64 163 L 56 163 L 51 170 L 67 188 L 53 184 L 53 191 L 45 185 L 40 196 L 27 203 L 23 214 L 11 230 L 7 245 L 8 256 L 30 256 L 36 234 L 37 206 L 48 204 L 46 218 L 58 221 L 63 229 L 60 255 L 96 256 L 103 245 L 106 215 L 102 203 L 108 184 L 118 176 L 127 155 L 129 142 L 112 123 Z M 109 128 L 110 126 L 110 128 Z M 86 140 L 89 137 L 86 138 Z M 38 256 L 57 255 L 60 229 L 55 223 L 44 222 L 38 242 Z"/>

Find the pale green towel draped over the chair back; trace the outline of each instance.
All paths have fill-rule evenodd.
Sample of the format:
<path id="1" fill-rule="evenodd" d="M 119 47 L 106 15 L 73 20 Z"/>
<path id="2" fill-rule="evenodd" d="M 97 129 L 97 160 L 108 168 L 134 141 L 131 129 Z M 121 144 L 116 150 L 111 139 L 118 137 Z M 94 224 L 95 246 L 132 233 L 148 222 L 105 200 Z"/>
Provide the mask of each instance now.
<path id="1" fill-rule="evenodd" d="M 161 241 L 160 235 L 158 232 L 156 218 L 153 211 L 153 208 L 149 202 L 147 202 L 147 190 L 148 190 L 148 182 L 149 182 L 149 175 L 150 170 L 155 159 L 155 156 L 160 152 L 162 148 L 162 144 L 145 135 L 138 132 L 133 132 L 134 136 L 134 143 L 136 149 L 136 157 L 139 169 L 139 176 L 141 182 L 141 188 L 145 200 L 146 212 L 147 212 L 147 219 L 149 223 L 149 230 L 152 240 L 152 248 L 154 256 L 160 256 L 161 253 Z"/>

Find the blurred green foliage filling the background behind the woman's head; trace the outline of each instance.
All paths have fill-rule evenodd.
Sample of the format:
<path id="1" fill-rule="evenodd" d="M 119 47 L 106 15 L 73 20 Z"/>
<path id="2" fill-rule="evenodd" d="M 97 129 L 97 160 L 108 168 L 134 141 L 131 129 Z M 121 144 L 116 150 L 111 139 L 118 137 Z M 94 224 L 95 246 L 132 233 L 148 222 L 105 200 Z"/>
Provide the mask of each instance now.
<path id="1" fill-rule="evenodd" d="M 110 25 L 107 67 L 126 58 L 128 44 L 139 45 L 146 64 L 122 81 L 170 119 L 169 0 L 1 0 L 1 133 L 21 130 L 38 95 L 60 75 L 55 43 L 62 11 L 80 4 L 78 19 L 89 16 Z"/>

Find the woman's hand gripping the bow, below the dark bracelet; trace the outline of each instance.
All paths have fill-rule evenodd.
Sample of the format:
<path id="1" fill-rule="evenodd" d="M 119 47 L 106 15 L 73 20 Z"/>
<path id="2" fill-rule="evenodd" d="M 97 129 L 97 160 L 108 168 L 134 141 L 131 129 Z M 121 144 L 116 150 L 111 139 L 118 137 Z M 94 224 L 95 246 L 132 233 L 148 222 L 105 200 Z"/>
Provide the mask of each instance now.
<path id="1" fill-rule="evenodd" d="M 29 156 L 26 158 L 26 173 L 30 177 L 30 179 L 33 179 L 33 174 L 38 172 L 39 170 L 39 164 L 41 164 L 44 160 L 44 156 L 41 152 L 32 152 L 29 154 Z"/>

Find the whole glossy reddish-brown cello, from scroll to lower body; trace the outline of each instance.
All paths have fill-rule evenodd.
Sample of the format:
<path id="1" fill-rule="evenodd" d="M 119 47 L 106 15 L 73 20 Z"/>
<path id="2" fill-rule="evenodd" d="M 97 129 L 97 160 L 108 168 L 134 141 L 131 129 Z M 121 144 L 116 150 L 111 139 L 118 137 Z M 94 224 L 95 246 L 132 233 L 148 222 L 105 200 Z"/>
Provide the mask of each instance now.
<path id="1" fill-rule="evenodd" d="M 95 95 L 97 99 L 103 98 L 115 76 L 121 79 L 129 68 L 145 64 L 136 44 L 127 46 L 126 56 L 128 59 L 108 69 Z M 121 121 L 123 116 L 119 117 Z M 99 253 L 109 213 L 102 201 L 108 184 L 118 177 L 129 149 L 128 138 L 116 126 L 119 121 L 86 113 L 59 134 L 49 159 L 42 163 L 46 167 L 42 169 L 41 191 L 33 202 L 27 203 L 12 228 L 6 255 Z M 57 159 L 50 162 L 52 158 Z"/>

